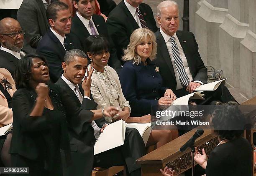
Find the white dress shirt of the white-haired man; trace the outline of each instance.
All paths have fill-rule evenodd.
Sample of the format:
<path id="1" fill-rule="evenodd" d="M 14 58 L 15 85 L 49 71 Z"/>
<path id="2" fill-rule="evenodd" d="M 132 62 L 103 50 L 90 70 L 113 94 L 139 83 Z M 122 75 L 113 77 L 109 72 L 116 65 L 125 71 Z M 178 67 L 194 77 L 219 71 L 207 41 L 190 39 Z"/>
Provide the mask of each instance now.
<path id="1" fill-rule="evenodd" d="M 171 61 L 172 61 L 172 66 L 173 66 L 173 69 L 174 69 L 174 73 L 175 73 L 175 78 L 176 78 L 176 81 L 177 81 L 177 88 L 176 90 L 178 89 L 181 89 L 183 88 L 180 81 L 179 81 L 179 73 L 177 72 L 177 68 L 175 66 L 175 63 L 174 63 L 174 58 L 173 58 L 173 54 L 172 54 L 172 43 L 171 43 L 171 36 L 169 36 L 168 34 L 164 33 L 164 31 L 160 28 L 160 33 L 163 35 L 164 37 L 164 41 L 166 43 L 166 46 L 167 46 L 167 49 L 168 49 L 168 52 L 169 52 L 169 55 L 170 55 L 170 58 L 171 58 Z M 192 78 L 192 74 L 190 73 L 190 70 L 189 70 L 189 66 L 188 66 L 188 63 L 187 63 L 187 58 L 184 54 L 184 51 L 182 49 L 182 46 L 181 44 L 179 43 L 179 39 L 176 35 L 176 33 L 174 33 L 174 41 L 177 43 L 178 45 L 178 49 L 179 49 L 179 54 L 180 54 L 180 57 L 182 58 L 182 62 L 183 62 L 183 65 L 184 65 L 184 68 L 187 72 L 187 75 L 189 77 L 189 80 L 190 82 L 193 81 L 193 78 Z M 200 83 L 203 85 L 203 83 L 200 81 L 200 80 L 194 80 L 193 82 L 195 83 Z"/>

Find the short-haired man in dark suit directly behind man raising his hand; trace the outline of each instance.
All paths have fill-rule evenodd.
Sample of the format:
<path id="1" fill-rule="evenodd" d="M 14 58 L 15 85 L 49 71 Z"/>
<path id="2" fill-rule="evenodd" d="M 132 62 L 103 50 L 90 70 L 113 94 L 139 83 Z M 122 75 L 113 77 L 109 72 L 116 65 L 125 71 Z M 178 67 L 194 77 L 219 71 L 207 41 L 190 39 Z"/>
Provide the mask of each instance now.
<path id="1" fill-rule="evenodd" d="M 48 6 L 46 16 L 51 28 L 38 43 L 36 52 L 46 57 L 51 81 L 55 83 L 63 73 L 61 63 L 65 53 L 74 48 L 80 49 L 81 45 L 75 35 L 69 34 L 71 14 L 68 5 L 54 1 Z"/>

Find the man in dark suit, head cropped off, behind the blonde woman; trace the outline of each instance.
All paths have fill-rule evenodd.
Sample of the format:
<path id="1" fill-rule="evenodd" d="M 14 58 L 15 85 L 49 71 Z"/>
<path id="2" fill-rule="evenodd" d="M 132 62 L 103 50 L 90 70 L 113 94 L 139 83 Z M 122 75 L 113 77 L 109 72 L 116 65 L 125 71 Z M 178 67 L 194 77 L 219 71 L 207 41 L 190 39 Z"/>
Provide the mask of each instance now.
<path id="1" fill-rule="evenodd" d="M 123 48 L 127 47 L 134 30 L 148 28 L 156 32 L 158 29 L 151 8 L 142 1 L 123 0 L 108 15 L 108 32 L 115 44 L 118 58 L 122 58 Z"/>

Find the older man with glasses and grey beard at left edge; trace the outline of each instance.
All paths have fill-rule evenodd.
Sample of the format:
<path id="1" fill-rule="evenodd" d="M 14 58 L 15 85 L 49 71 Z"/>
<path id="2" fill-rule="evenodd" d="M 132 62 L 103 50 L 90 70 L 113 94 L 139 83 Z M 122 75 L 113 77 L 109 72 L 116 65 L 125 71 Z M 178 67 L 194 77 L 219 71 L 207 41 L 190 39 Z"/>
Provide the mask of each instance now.
<path id="1" fill-rule="evenodd" d="M 21 57 L 25 31 L 13 18 L 0 20 L 0 68 L 7 69 L 12 75 Z"/>

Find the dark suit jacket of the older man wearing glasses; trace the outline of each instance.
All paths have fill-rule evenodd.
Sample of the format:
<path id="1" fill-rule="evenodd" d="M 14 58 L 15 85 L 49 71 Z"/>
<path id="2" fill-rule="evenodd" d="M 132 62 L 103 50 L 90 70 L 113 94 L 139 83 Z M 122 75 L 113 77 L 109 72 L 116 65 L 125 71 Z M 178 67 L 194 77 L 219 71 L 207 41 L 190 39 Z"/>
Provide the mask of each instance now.
<path id="1" fill-rule="evenodd" d="M 16 58 L 14 55 L 6 51 L 0 50 L 0 68 L 5 68 L 13 75 L 18 61 L 19 59 Z"/>

